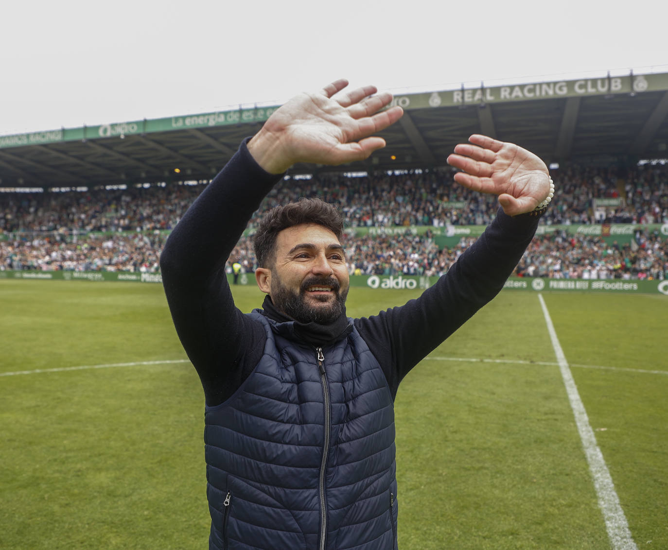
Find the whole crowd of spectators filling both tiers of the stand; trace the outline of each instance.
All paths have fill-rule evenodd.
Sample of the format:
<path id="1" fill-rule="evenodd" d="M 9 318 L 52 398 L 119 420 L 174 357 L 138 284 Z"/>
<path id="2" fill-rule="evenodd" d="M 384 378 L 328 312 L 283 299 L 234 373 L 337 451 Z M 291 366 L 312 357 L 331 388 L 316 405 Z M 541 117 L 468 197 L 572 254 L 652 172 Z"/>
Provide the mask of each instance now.
<path id="1" fill-rule="evenodd" d="M 625 171 L 571 166 L 554 171 L 552 178 L 556 194 L 542 224 L 668 223 L 668 166 L 645 164 Z M 0 269 L 157 272 L 164 232 L 176 225 L 202 188 L 172 184 L 0 194 L 0 232 L 7 237 L 0 240 Z M 339 204 L 351 228 L 486 225 L 498 208 L 496 197 L 454 184 L 452 170 L 442 168 L 293 178 L 277 186 L 259 211 L 301 196 Z M 596 208 L 595 198 L 614 206 Z M 251 230 L 256 222 L 254 217 Z M 470 244 L 463 239 L 454 248 L 439 250 L 429 230 L 424 236 L 345 239 L 351 273 L 361 274 L 440 275 Z M 255 270 L 248 238 L 240 240 L 232 258 L 246 272 Z M 662 279 L 667 258 L 667 241 L 654 234 L 638 232 L 630 244 L 609 246 L 602 238 L 557 231 L 536 237 L 517 274 Z"/>

